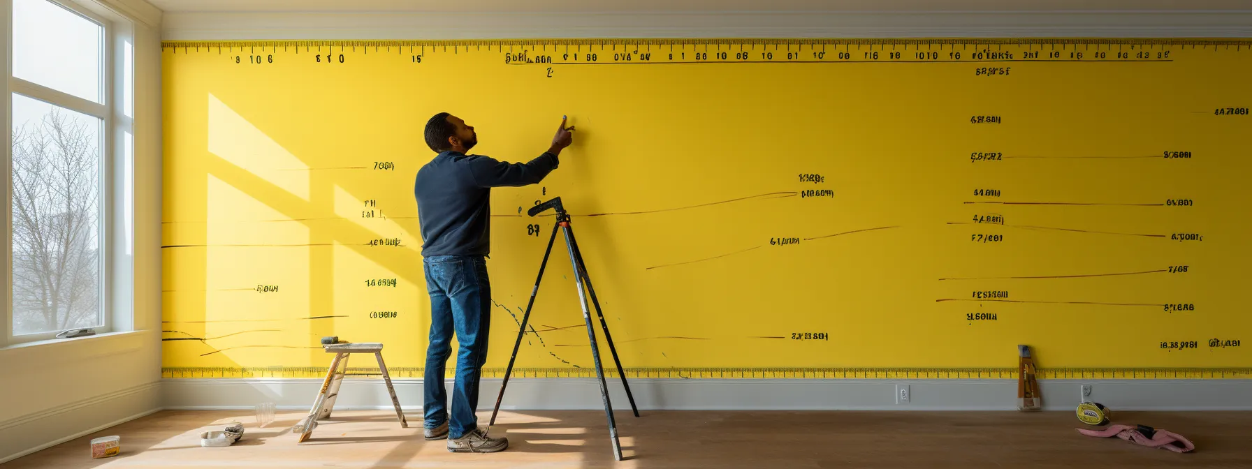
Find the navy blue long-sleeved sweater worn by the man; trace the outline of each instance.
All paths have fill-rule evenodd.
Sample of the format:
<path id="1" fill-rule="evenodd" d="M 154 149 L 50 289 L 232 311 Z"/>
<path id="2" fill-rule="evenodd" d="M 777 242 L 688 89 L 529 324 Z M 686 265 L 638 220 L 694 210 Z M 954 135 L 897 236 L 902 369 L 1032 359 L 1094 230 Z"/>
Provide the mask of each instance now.
<path id="1" fill-rule="evenodd" d="M 525 164 L 459 151 L 436 155 L 413 181 L 422 256 L 490 254 L 491 188 L 536 184 L 557 163 L 548 151 Z"/>

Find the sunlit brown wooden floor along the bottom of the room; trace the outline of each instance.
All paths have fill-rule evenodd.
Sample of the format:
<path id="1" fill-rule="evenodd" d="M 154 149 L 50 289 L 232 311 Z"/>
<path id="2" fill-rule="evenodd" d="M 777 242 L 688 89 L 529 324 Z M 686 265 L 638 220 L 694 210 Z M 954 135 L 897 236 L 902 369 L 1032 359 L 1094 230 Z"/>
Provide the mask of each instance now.
<path id="1" fill-rule="evenodd" d="M 480 413 L 486 421 L 490 410 Z M 617 413 L 613 461 L 603 411 L 501 413 L 495 454 L 452 454 L 421 438 L 421 415 L 338 411 L 297 444 L 299 413 L 257 428 L 248 411 L 160 411 L 4 464 L 24 468 L 1252 468 L 1252 413 L 1117 413 L 1191 439 L 1177 454 L 1078 434 L 1073 413 L 644 411 Z M 228 448 L 199 433 L 245 426 Z M 123 453 L 91 459 L 88 441 L 120 435 Z"/>

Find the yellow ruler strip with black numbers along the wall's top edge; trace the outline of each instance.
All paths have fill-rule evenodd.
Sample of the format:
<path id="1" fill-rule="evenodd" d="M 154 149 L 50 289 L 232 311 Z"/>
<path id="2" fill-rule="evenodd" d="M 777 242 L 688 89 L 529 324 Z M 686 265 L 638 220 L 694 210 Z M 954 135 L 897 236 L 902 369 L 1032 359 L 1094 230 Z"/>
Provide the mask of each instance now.
<path id="1" fill-rule="evenodd" d="M 512 65 L 706 64 L 706 63 L 1136 63 L 1172 61 L 1169 49 L 1221 50 L 1252 46 L 1243 39 L 520 39 L 520 40 L 233 40 L 163 41 L 172 54 L 353 53 L 517 53 Z M 980 49 L 983 48 L 983 49 Z M 1023 53 L 1022 49 L 1025 49 Z M 945 51 L 938 54 L 936 51 Z M 1043 53 L 1047 51 L 1047 53 Z M 1116 53 L 1113 53 L 1116 51 Z M 535 55 L 527 55 L 533 53 Z M 577 53 L 577 54 L 572 54 Z M 586 55 L 583 53 L 592 53 Z M 610 53 L 601 56 L 598 53 Z M 676 53 L 676 54 L 674 54 Z M 560 54 L 560 55 L 557 55 Z M 273 63 L 272 56 L 254 64 Z M 428 58 L 427 58 L 428 59 Z M 512 59 L 512 60 L 510 60 Z M 343 63 L 344 58 L 328 61 Z"/>

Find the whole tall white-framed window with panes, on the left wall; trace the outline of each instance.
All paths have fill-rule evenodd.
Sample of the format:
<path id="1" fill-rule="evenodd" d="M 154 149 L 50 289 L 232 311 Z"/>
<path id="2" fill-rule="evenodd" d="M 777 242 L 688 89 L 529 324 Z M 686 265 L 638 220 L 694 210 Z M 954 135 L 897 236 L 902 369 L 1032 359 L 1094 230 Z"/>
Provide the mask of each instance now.
<path id="1" fill-rule="evenodd" d="M 0 164 L 8 173 L 0 208 L 11 221 L 0 234 L 9 245 L 0 286 L 11 294 L 0 296 L 8 300 L 0 339 L 109 331 L 114 308 L 130 304 L 110 290 L 115 253 L 130 253 L 118 240 L 131 231 L 113 230 L 115 216 L 130 218 L 130 39 L 70 0 L 0 4 L 11 14 L 10 151 Z M 121 66 L 111 66 L 114 58 Z"/>

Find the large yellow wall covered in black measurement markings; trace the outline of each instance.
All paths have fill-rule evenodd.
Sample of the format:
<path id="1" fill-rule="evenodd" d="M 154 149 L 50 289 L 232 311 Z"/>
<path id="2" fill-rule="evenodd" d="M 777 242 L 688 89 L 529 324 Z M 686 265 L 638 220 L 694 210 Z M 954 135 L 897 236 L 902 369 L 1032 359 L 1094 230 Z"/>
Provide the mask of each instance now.
<path id="1" fill-rule="evenodd" d="M 1248 45 L 167 43 L 164 375 L 316 376 L 323 335 L 421 375 L 412 186 L 449 111 L 508 161 L 577 126 L 492 191 L 487 375 L 561 196 L 631 375 L 1015 378 L 1028 344 L 1246 376 Z M 532 324 L 515 373 L 591 373 L 560 238 Z"/>

